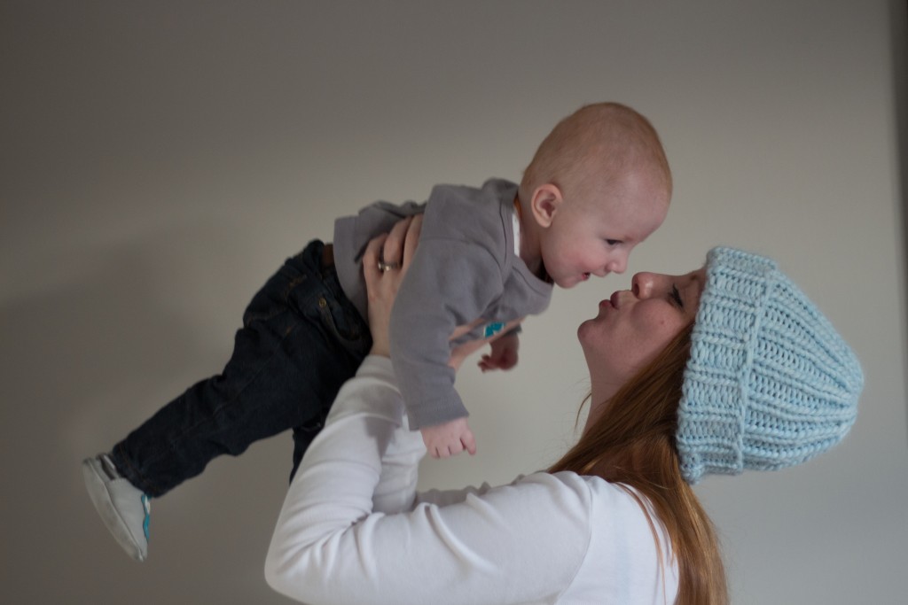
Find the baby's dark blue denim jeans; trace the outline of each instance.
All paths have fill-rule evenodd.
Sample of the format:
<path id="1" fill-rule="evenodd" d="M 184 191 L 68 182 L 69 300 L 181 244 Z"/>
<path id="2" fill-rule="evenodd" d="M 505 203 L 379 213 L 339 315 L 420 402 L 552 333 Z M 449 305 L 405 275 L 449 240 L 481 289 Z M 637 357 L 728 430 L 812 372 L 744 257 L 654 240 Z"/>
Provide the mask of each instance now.
<path id="1" fill-rule="evenodd" d="M 293 429 L 293 473 L 341 385 L 372 346 L 312 241 L 252 298 L 222 374 L 183 395 L 114 446 L 114 464 L 149 496 L 167 493 L 221 454 Z"/>

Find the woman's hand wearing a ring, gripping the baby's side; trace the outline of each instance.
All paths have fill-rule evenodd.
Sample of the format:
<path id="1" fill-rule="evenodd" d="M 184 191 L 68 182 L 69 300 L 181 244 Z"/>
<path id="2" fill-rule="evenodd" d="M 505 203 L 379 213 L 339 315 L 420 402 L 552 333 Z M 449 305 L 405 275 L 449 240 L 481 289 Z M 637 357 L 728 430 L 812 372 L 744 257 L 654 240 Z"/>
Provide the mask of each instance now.
<path id="1" fill-rule="evenodd" d="M 390 356 L 391 307 L 419 243 L 422 215 L 400 220 L 389 233 L 369 242 L 362 257 L 369 299 L 372 355 Z"/>

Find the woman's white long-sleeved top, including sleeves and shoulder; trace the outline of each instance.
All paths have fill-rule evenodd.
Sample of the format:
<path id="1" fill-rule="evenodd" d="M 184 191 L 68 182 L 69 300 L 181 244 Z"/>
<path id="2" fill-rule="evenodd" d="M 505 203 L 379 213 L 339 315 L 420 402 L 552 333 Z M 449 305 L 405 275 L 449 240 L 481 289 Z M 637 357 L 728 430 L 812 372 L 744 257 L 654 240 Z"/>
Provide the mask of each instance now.
<path id="1" fill-rule="evenodd" d="M 291 483 L 271 587 L 311 605 L 674 602 L 666 534 L 623 486 L 532 473 L 417 494 L 424 453 L 390 360 L 367 357 Z"/>

